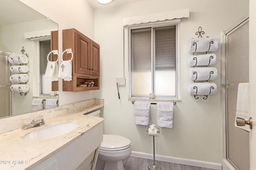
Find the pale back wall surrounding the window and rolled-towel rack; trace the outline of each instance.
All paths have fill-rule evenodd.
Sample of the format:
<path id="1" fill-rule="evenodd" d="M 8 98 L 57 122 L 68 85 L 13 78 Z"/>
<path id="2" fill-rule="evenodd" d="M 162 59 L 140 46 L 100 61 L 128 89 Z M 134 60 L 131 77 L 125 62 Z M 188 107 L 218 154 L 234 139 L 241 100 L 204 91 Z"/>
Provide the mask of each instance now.
<path id="1" fill-rule="evenodd" d="M 196 38 L 201 26 L 204 37 L 220 37 L 246 14 L 249 1 L 246 0 L 145 0 L 125 6 L 99 8 L 95 10 L 95 41 L 101 45 L 101 86 L 96 98 L 104 98 L 102 109 L 104 133 L 118 134 L 132 141 L 132 150 L 152 153 L 152 137 L 146 128 L 134 124 L 134 106 L 129 97 L 128 57 L 123 59 L 123 18 L 158 12 L 190 9 L 190 18 L 180 24 L 180 80 L 181 102 L 174 106 L 173 129 L 161 128 L 156 137 L 156 154 L 192 160 L 221 163 L 220 139 L 220 49 L 216 52 L 218 86 L 216 95 L 207 100 L 198 100 L 187 93 L 188 79 L 186 58 L 188 39 Z M 123 61 L 124 60 L 124 61 Z M 123 62 L 124 68 L 123 68 Z M 125 72 L 123 73 L 123 70 Z M 118 99 L 116 78 L 125 74 L 126 85 L 119 86 Z M 156 124 L 156 106 L 151 106 L 152 121 Z"/>

